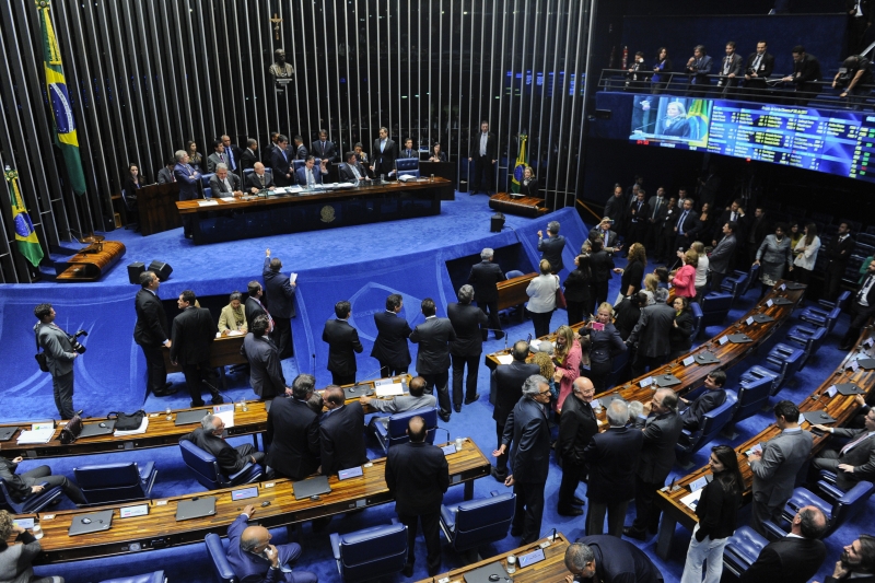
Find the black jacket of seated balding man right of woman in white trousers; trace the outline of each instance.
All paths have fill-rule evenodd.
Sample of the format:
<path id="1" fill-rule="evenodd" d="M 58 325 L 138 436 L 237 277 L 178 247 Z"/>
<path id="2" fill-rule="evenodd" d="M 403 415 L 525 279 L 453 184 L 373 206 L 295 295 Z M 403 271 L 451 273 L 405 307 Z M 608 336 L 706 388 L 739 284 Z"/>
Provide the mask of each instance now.
<path id="1" fill-rule="evenodd" d="M 784 537 L 766 545 L 738 582 L 806 583 L 817 573 L 826 557 L 827 548 L 821 540 Z"/>

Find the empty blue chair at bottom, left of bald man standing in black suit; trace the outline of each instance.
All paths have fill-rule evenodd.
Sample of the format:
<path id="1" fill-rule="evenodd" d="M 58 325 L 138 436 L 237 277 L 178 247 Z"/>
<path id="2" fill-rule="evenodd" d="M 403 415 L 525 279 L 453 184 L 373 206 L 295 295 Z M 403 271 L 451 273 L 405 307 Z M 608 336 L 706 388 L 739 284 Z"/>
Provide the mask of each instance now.
<path id="1" fill-rule="evenodd" d="M 331 533 L 337 571 L 347 583 L 371 581 L 398 573 L 407 562 L 407 526 L 372 526 L 341 535 Z"/>

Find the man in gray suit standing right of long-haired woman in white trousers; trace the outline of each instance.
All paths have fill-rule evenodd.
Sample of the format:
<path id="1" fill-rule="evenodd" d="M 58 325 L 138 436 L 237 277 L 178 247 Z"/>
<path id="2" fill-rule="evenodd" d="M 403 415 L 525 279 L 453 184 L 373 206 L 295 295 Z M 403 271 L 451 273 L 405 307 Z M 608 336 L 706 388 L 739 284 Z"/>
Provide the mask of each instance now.
<path id="1" fill-rule="evenodd" d="M 813 438 L 800 427 L 800 410 L 791 400 L 774 406 L 775 424 L 781 434 L 769 440 L 762 451 L 751 452 L 747 463 L 754 473 L 754 504 L 750 526 L 766 536 L 762 521 L 778 521 L 793 494 L 796 475 L 812 453 Z"/>

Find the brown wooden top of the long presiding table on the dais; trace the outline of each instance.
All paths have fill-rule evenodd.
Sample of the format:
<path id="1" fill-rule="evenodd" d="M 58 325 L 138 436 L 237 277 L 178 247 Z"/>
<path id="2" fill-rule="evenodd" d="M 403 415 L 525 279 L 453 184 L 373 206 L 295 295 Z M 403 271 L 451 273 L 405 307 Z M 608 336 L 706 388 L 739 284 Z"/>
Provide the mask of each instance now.
<path id="1" fill-rule="evenodd" d="M 453 183 L 446 178 L 434 177 L 434 182 L 420 180 L 420 182 L 398 182 L 393 180 L 383 185 L 358 186 L 353 188 L 331 188 L 331 189 L 316 189 L 303 190 L 301 193 L 292 193 L 285 195 L 270 195 L 267 197 L 259 196 L 244 196 L 242 198 L 234 198 L 233 200 L 225 200 L 222 198 L 211 198 L 219 205 L 201 206 L 203 199 L 195 200 L 177 200 L 176 208 L 182 214 L 208 212 L 215 210 L 242 210 L 249 207 L 262 207 L 270 205 L 289 205 L 289 203 L 311 203 L 314 200 L 330 200 L 336 198 L 350 198 L 350 197 L 366 197 L 377 196 L 382 194 L 393 194 L 404 190 L 429 190 L 429 189 L 443 189 L 452 188 Z"/>

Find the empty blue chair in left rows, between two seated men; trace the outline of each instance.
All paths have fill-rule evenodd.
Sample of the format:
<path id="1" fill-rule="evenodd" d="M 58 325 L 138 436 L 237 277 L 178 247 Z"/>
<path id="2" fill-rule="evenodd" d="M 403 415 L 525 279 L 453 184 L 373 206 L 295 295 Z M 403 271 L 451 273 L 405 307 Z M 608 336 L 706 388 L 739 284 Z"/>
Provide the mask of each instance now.
<path id="1" fill-rule="evenodd" d="M 154 462 L 148 462 L 142 467 L 128 462 L 82 466 L 74 468 L 73 475 L 89 504 L 108 504 L 149 498 L 158 468 Z"/>

